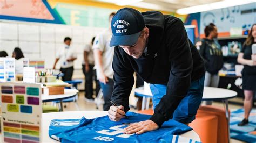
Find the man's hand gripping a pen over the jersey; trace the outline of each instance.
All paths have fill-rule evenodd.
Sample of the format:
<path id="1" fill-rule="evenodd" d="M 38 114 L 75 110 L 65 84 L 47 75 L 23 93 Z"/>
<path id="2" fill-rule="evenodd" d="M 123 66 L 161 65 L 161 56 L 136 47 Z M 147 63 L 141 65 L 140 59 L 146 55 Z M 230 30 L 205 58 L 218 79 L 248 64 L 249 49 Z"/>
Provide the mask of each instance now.
<path id="1" fill-rule="evenodd" d="M 112 121 L 119 121 L 124 118 L 124 106 L 110 106 L 109 111 L 107 111 L 109 119 Z"/>

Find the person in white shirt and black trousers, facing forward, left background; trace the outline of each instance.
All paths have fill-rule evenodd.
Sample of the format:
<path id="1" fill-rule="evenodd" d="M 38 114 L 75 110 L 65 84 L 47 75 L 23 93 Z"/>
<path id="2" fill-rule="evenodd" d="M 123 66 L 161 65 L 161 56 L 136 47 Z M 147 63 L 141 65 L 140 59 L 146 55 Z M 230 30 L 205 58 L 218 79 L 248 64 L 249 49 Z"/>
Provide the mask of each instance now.
<path id="1" fill-rule="evenodd" d="M 53 69 L 56 68 L 57 62 L 60 60 L 60 71 L 64 74 L 62 77 L 63 81 L 71 81 L 73 71 L 74 71 L 74 60 L 77 59 L 75 49 L 70 47 L 71 38 L 64 38 L 64 46 L 59 48 L 59 51 L 56 53 L 56 60 L 53 66 Z"/>

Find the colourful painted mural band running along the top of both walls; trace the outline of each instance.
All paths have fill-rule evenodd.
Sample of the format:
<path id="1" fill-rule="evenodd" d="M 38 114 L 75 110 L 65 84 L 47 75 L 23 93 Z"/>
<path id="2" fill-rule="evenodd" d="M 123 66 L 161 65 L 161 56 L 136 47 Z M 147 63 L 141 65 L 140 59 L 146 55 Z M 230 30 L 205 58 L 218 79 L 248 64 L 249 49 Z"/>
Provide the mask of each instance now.
<path id="1" fill-rule="evenodd" d="M 119 8 L 122 7 L 81 0 L 0 0 L 0 19 L 106 27 L 109 14 Z M 217 25 L 220 37 L 229 36 L 231 27 L 248 30 L 253 23 L 256 23 L 255 8 L 256 3 L 251 3 L 191 15 L 164 11 L 163 13 L 179 17 L 185 25 L 196 25 L 197 41 L 204 37 L 204 27 L 209 23 Z M 146 9 L 137 9 L 146 11 Z"/>

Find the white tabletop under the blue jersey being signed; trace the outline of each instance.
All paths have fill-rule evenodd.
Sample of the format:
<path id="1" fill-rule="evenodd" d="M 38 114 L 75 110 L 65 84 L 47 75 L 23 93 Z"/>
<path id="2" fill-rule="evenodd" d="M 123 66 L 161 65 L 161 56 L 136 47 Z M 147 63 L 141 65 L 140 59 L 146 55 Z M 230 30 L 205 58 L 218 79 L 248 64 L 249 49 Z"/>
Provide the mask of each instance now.
<path id="1" fill-rule="evenodd" d="M 43 113 L 42 121 L 42 142 L 58 142 L 53 140 L 48 135 L 49 125 L 53 119 L 80 119 L 83 116 L 87 119 L 97 118 L 107 115 L 107 111 L 67 111 L 67 112 L 52 112 L 52 113 Z M 196 132 L 193 130 L 188 131 L 180 136 L 190 138 L 196 141 L 200 141 L 200 138 Z"/>

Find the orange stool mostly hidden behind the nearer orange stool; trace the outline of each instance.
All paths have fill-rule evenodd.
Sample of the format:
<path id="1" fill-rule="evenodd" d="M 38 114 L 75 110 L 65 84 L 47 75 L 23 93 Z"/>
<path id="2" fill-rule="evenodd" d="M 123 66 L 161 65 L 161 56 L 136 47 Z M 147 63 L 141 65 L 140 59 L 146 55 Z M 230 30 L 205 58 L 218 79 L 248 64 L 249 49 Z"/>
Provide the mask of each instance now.
<path id="1" fill-rule="evenodd" d="M 228 142 L 228 126 L 226 119 L 226 111 L 223 108 L 216 106 L 206 105 L 200 106 L 198 112 L 206 112 L 209 115 L 215 115 L 218 117 L 217 126 L 217 142 Z"/>

